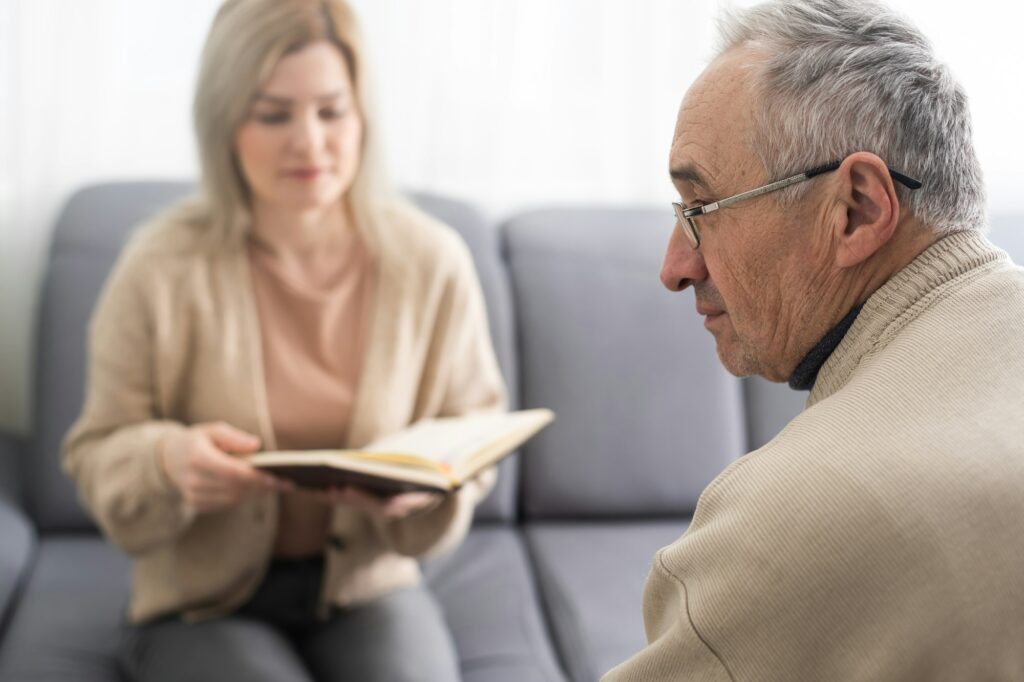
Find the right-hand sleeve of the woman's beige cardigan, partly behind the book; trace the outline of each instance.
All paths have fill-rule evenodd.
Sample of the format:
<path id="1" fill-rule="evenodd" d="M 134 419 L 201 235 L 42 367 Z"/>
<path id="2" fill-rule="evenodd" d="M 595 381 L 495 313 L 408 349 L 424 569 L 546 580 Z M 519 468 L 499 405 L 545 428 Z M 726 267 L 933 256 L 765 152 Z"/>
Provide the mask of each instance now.
<path id="1" fill-rule="evenodd" d="M 457 267 L 447 282 L 431 343 L 430 364 L 441 381 L 439 404 L 430 410 L 437 417 L 506 408 L 505 384 L 495 356 L 487 327 L 483 292 L 468 249 L 458 242 Z M 429 511 L 383 522 L 390 547 L 408 556 L 443 553 L 457 547 L 473 521 L 478 502 L 498 479 L 492 467 L 467 481 Z"/>

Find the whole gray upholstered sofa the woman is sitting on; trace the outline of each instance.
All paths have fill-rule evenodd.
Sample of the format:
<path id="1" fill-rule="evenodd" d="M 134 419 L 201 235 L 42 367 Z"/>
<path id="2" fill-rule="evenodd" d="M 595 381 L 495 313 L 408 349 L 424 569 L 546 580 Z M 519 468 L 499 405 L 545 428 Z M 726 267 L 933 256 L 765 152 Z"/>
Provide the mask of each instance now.
<path id="1" fill-rule="evenodd" d="M 87 187 L 56 225 L 35 422 L 29 438 L 0 434 L 0 680 L 121 679 L 113 651 L 129 563 L 79 506 L 59 443 L 82 400 L 86 324 L 120 246 L 190 188 Z M 416 201 L 473 252 L 514 403 L 558 414 L 503 463 L 467 542 L 428 562 L 427 580 L 467 681 L 595 680 L 644 643 L 654 551 L 804 395 L 719 368 L 692 296 L 657 282 L 667 208 L 544 210 L 494 225 L 466 204 Z"/>

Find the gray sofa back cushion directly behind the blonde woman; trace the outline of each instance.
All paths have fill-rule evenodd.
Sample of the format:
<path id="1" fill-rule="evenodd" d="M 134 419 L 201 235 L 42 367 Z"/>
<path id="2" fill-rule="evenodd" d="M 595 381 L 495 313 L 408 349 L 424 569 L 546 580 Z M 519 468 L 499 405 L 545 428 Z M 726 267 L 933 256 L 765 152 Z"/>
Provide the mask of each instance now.
<path id="1" fill-rule="evenodd" d="M 57 220 L 39 308 L 33 452 L 25 467 L 29 510 L 44 531 L 94 527 L 60 469 L 60 443 L 81 411 L 86 329 L 99 291 L 133 227 L 194 188 L 189 182 L 94 185 L 76 193 Z M 496 351 L 514 399 L 513 315 L 494 226 L 461 202 L 426 195 L 414 200 L 458 229 L 469 245 L 484 290 Z M 517 465 L 509 460 L 502 466 L 499 485 L 480 505 L 478 518 L 515 517 Z"/>

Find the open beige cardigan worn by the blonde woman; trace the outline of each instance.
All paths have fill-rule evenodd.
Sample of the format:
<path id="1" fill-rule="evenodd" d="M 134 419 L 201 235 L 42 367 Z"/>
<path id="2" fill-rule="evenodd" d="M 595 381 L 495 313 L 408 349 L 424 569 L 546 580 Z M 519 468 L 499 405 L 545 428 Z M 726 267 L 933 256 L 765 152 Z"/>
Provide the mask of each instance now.
<path id="1" fill-rule="evenodd" d="M 449 227 L 395 206 L 368 231 L 375 304 L 348 445 L 427 417 L 504 407 L 505 393 L 472 259 Z M 216 244 L 216 246 L 215 246 Z M 164 477 L 157 444 L 184 425 L 224 421 L 273 432 L 245 246 L 165 217 L 121 255 L 93 314 L 88 389 L 65 443 L 65 467 L 105 536 L 132 556 L 129 617 L 223 614 L 268 565 L 278 497 L 195 515 Z M 494 472 L 439 507 L 375 521 L 337 507 L 322 610 L 413 585 L 411 557 L 466 534 Z"/>

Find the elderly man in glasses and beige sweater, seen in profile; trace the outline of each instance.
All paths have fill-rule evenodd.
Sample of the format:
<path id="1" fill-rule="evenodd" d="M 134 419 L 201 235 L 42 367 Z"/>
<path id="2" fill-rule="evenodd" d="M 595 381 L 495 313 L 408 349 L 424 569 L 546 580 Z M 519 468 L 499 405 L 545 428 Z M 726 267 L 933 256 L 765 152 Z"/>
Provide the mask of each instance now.
<path id="1" fill-rule="evenodd" d="M 662 281 L 807 410 L 654 559 L 627 680 L 1024 680 L 1024 270 L 967 98 L 863 0 L 726 17 L 679 112 Z"/>

